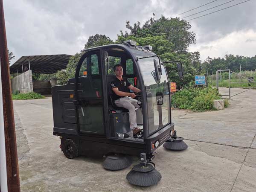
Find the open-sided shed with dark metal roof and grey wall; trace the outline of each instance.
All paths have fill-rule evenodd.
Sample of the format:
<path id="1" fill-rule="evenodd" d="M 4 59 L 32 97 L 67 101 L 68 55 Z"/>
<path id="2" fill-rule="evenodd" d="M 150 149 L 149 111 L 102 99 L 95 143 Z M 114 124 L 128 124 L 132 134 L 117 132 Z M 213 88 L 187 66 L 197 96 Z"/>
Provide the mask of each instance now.
<path id="1" fill-rule="evenodd" d="M 55 80 L 36 81 L 32 79 L 32 73 L 52 74 L 67 67 L 72 55 L 29 55 L 22 56 L 10 66 L 13 76 L 12 92 L 19 90 L 20 93 L 36 92 L 51 94 L 51 87 L 57 84 Z"/>

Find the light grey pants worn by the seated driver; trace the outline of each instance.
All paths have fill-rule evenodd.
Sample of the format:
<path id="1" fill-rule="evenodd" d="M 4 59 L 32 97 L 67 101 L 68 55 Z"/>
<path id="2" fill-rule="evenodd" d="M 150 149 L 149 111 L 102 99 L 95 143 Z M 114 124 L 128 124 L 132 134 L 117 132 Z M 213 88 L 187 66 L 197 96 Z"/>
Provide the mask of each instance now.
<path id="1" fill-rule="evenodd" d="M 129 110 L 129 120 L 130 120 L 130 128 L 133 130 L 137 127 L 137 119 L 135 108 L 140 108 L 138 105 L 138 100 L 132 99 L 131 97 L 122 97 L 120 99 L 115 100 L 115 104 L 117 107 L 122 107 Z"/>

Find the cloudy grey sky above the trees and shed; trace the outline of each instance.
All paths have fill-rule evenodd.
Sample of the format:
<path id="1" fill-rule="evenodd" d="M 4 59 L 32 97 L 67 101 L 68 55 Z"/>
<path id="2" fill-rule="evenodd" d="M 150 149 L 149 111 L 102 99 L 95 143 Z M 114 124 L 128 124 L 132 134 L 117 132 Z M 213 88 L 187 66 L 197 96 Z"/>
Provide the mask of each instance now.
<path id="1" fill-rule="evenodd" d="M 120 30 L 129 31 L 126 21 L 144 23 L 153 13 L 155 19 L 161 15 L 183 18 L 231 0 L 212 1 L 3 0 L 8 49 L 15 55 L 11 63 L 22 55 L 74 55 L 91 35 L 102 34 L 115 40 Z M 190 45 L 188 51 L 199 51 L 202 61 L 208 56 L 256 55 L 256 0 L 243 1 L 232 0 L 184 18 L 196 34 L 196 44 Z M 193 19 L 237 3 L 241 4 Z M 198 6 L 202 7 L 189 11 Z"/>

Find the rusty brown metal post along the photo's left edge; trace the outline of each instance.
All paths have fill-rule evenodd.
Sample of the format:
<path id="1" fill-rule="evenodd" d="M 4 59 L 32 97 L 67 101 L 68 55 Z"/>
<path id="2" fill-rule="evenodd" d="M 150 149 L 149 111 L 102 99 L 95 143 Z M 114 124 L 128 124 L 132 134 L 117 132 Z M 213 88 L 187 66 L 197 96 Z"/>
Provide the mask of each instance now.
<path id="1" fill-rule="evenodd" d="M 6 41 L 6 29 L 4 21 L 3 12 L 3 0 L 0 0 L 0 65 L 1 65 L 1 89 L 0 92 L 3 101 L 2 106 L 0 106 L 0 117 L 3 119 L 3 127 L 0 126 L 1 133 L 4 132 L 4 143 L 5 143 L 5 154 L 6 154 L 6 172 L 5 170 L 0 170 L 0 187 L 1 189 L 8 189 L 8 192 L 20 192 L 20 178 L 19 178 L 19 168 L 18 168 L 18 158 L 17 158 L 17 145 L 16 145 L 16 135 L 15 135 L 15 123 L 13 115 L 12 106 L 12 94 L 11 94 L 11 81 L 10 81 L 10 69 L 8 61 L 8 51 L 7 51 L 7 41 Z M 1 108 L 3 110 L 1 110 Z M 3 114 L 2 114 L 3 113 Z M 0 120 L 1 122 L 2 120 Z M 4 129 L 4 130 L 3 130 Z M 3 142 L 3 137 L 0 137 L 1 143 Z M 2 146 L 1 151 L 2 150 Z M 0 153 L 1 160 L 2 153 Z M 4 162 L 1 162 L 1 166 Z M 6 178 L 3 178 L 3 175 Z M 7 182 L 5 182 L 7 180 Z M 6 186 L 7 183 L 7 186 Z"/>

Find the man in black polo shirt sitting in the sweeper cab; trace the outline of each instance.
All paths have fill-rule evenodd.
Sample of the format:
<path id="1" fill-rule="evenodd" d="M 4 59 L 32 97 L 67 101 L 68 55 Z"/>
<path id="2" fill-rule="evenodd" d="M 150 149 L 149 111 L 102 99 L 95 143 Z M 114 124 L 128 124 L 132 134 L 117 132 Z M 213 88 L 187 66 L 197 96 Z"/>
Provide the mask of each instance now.
<path id="1" fill-rule="evenodd" d="M 140 89 L 134 87 L 129 83 L 127 79 L 123 79 L 123 68 L 121 64 L 116 64 L 113 67 L 114 72 L 116 73 L 116 78 L 111 82 L 111 89 L 113 90 L 113 99 L 117 107 L 126 108 L 129 110 L 129 121 L 130 128 L 133 132 L 133 135 L 140 132 L 140 129 L 137 128 L 137 119 L 135 108 L 140 108 L 138 105 L 138 100 L 134 99 L 136 95 L 134 93 L 139 93 Z M 131 93 L 132 90 L 134 93 Z"/>

